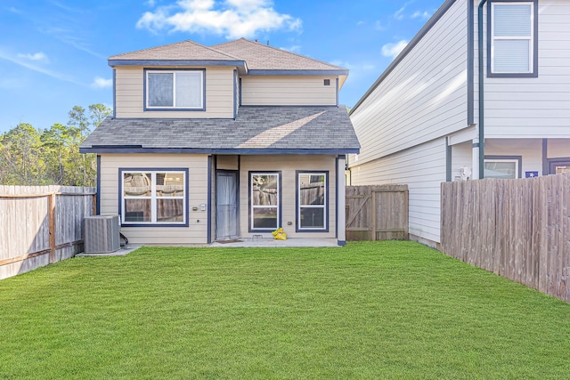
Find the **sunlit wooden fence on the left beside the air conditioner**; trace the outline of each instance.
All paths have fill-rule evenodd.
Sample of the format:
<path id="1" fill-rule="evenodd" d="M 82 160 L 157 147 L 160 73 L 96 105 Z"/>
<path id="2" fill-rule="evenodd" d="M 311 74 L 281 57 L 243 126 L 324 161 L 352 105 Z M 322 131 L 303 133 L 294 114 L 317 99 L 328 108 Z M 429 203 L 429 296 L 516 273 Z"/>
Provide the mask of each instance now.
<path id="1" fill-rule="evenodd" d="M 86 187 L 0 186 L 0 279 L 82 252 L 95 197 Z"/>

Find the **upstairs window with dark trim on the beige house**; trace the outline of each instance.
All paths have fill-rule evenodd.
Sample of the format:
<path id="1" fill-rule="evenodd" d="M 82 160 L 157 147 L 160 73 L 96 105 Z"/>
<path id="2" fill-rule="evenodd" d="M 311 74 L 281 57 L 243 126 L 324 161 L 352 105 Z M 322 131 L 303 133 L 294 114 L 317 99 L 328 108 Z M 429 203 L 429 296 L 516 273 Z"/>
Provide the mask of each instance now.
<path id="1" fill-rule="evenodd" d="M 145 110 L 204 109 L 204 70 L 144 70 Z"/>

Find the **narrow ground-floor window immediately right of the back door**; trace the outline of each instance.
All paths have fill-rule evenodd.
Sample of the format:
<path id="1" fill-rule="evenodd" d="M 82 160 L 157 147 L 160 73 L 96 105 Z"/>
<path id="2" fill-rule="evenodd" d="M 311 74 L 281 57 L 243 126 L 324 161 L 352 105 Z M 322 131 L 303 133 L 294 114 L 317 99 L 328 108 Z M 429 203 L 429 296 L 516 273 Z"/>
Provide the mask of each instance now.
<path id="1" fill-rule="evenodd" d="M 249 173 L 249 229 L 276 230 L 281 225 L 281 173 Z"/>

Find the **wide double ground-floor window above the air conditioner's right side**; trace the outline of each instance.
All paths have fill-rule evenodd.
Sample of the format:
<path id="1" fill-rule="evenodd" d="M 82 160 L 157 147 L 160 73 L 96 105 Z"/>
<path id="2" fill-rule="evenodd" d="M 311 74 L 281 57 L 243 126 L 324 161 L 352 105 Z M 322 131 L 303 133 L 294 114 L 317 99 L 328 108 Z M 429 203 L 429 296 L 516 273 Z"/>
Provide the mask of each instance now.
<path id="1" fill-rule="evenodd" d="M 188 170 L 119 171 L 121 222 L 126 225 L 188 225 Z"/>

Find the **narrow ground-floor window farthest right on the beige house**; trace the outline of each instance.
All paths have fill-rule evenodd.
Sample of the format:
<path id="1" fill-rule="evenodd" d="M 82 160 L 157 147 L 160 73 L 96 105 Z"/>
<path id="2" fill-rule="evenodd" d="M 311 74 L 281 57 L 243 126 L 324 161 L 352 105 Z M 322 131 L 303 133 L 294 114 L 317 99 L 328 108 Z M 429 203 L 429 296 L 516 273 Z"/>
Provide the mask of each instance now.
<path id="1" fill-rule="evenodd" d="M 327 230 L 326 172 L 297 172 L 297 230 Z"/>

